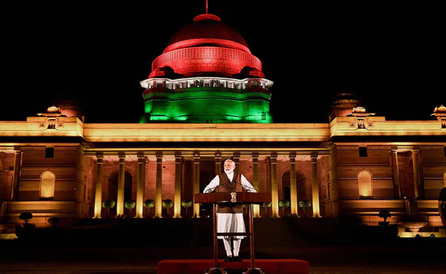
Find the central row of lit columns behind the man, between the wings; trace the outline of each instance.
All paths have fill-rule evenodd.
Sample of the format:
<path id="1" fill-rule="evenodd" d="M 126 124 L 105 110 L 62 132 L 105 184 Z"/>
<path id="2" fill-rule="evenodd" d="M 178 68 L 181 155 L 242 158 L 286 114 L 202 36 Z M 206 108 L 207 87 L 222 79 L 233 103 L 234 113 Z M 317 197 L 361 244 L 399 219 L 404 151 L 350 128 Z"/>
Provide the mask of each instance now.
<path id="1" fill-rule="evenodd" d="M 156 188 L 155 188 L 155 217 L 162 217 L 162 190 L 163 190 L 163 153 L 156 152 Z M 291 201 L 290 208 L 292 214 L 298 212 L 298 195 L 296 185 L 296 153 L 292 152 L 287 154 L 290 164 L 290 192 Z M 137 167 L 137 195 L 136 195 L 136 218 L 143 217 L 143 192 L 145 188 L 145 162 L 147 155 L 144 153 L 137 153 L 138 167 Z M 268 155 L 268 182 L 271 190 L 271 209 L 272 217 L 279 217 L 279 189 L 277 179 L 277 153 L 271 153 Z M 118 171 L 118 189 L 117 189 L 117 214 L 124 214 L 124 180 L 125 180 L 125 153 L 118 153 L 119 158 L 119 171 Z M 200 153 L 194 152 L 193 158 L 193 193 L 200 193 Z M 252 184 L 254 188 L 259 189 L 259 153 L 255 152 L 250 155 L 252 159 Z M 96 166 L 96 188 L 95 188 L 95 206 L 94 206 L 94 218 L 101 217 L 102 211 L 102 180 L 103 180 L 103 166 L 104 166 L 104 154 L 96 153 L 97 166 Z M 174 154 L 175 159 L 175 175 L 174 175 L 174 218 L 180 217 L 181 211 L 181 177 L 183 176 L 182 163 L 183 157 L 180 152 Z M 233 161 L 235 162 L 235 172 L 239 171 L 240 154 L 233 153 Z M 318 180 L 318 155 L 313 153 L 310 155 L 311 159 L 311 180 L 312 180 L 312 207 L 314 217 L 320 216 L 319 207 L 319 180 Z M 222 154 L 215 152 L 215 175 L 222 172 Z M 260 216 L 260 206 L 254 206 L 254 216 Z M 200 204 L 193 203 L 193 215 L 200 216 Z"/>

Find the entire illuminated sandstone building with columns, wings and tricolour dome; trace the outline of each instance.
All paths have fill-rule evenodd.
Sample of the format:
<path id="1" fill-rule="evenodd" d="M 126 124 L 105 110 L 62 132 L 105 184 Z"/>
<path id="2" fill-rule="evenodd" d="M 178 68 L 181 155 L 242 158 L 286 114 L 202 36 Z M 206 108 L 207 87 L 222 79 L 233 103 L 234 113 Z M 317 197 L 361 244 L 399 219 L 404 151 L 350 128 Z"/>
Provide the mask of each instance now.
<path id="1" fill-rule="evenodd" d="M 377 225 L 407 216 L 439 227 L 437 199 L 446 186 L 446 108 L 425 121 L 386 121 L 350 95 L 331 105 L 328 123 L 272 123 L 272 81 L 243 38 L 213 14 L 196 16 L 152 63 L 141 123 L 84 123 L 70 105 L 55 105 L 26 121 L 0 121 L 0 216 L 21 212 L 47 225 L 83 218 L 206 214 L 182 201 L 222 171 L 227 158 L 260 192 L 269 212 L 255 216 L 357 216 Z M 427 117 L 430 118 L 430 117 Z M 110 212 L 105 200 L 116 202 Z M 279 201 L 290 201 L 282 210 Z M 309 208 L 299 207 L 309 201 Z M 305 211 L 304 211 L 305 210 Z M 406 233 L 406 234 L 405 234 Z M 442 232 L 444 236 L 444 231 Z"/>

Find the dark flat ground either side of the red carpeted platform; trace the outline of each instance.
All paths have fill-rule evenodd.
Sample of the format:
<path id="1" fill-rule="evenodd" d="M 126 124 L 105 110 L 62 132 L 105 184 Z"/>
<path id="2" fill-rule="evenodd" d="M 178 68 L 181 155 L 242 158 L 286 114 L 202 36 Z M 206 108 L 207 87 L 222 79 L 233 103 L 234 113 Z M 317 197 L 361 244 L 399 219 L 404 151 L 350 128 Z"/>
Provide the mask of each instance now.
<path id="1" fill-rule="evenodd" d="M 0 250 L 0 273 L 149 274 L 160 260 L 211 259 L 212 253 L 207 247 L 9 247 Z M 296 247 L 259 250 L 257 258 L 307 260 L 313 274 L 444 274 L 445 254 L 445 247 Z"/>

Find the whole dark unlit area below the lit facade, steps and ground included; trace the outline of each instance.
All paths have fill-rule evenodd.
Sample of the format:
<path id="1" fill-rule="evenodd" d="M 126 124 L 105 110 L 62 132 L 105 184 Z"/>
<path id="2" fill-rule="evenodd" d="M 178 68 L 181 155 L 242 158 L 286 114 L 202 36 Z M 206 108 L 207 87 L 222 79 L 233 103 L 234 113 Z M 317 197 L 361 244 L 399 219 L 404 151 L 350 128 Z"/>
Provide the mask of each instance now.
<path id="1" fill-rule="evenodd" d="M 150 274 L 156 273 L 158 262 L 164 259 L 213 258 L 209 220 L 193 224 L 194 229 L 187 229 L 185 221 L 157 222 L 162 225 L 139 223 L 135 229 L 121 223 L 108 229 L 89 227 L 69 234 L 58 232 L 58 236 L 34 233 L 25 240 L 3 240 L 0 273 Z M 446 273 L 446 238 L 403 239 L 364 229 L 356 234 L 317 229 L 327 227 L 327 221 L 256 222 L 255 258 L 307 260 L 312 274 Z M 219 244 L 220 258 L 224 258 Z M 247 239 L 242 241 L 241 256 L 249 259 Z"/>

